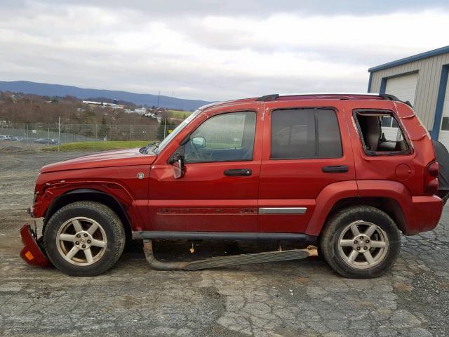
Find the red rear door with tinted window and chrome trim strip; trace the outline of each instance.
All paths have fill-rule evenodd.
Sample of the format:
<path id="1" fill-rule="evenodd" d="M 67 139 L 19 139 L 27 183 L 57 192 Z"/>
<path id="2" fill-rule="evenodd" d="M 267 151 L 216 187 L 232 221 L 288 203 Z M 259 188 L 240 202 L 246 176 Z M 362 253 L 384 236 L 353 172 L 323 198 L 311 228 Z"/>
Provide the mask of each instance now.
<path id="1" fill-rule="evenodd" d="M 265 103 L 259 232 L 304 232 L 321 190 L 355 178 L 342 105 L 314 103 Z"/>

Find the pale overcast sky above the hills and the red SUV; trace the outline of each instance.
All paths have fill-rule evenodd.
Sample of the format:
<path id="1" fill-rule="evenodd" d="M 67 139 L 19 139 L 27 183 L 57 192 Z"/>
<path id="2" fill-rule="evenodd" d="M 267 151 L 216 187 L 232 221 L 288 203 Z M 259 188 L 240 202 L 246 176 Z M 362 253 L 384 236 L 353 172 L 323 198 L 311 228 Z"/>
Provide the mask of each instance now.
<path id="1" fill-rule="evenodd" d="M 230 100 L 366 92 L 449 45 L 449 1 L 2 0 L 0 80 Z"/>

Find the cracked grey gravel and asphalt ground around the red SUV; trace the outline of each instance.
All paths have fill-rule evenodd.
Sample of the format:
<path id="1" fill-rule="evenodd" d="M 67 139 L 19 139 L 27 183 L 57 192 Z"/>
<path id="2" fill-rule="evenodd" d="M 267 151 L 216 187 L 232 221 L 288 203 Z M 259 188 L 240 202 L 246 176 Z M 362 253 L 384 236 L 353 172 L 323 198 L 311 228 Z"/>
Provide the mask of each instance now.
<path id="1" fill-rule="evenodd" d="M 99 277 L 30 267 L 18 229 L 30 221 L 36 175 L 76 155 L 0 153 L 1 336 L 449 336 L 447 208 L 436 230 L 403 237 L 393 270 L 371 280 L 344 279 L 319 258 L 159 272 L 139 242 Z M 195 257 L 220 247 L 197 249 Z"/>

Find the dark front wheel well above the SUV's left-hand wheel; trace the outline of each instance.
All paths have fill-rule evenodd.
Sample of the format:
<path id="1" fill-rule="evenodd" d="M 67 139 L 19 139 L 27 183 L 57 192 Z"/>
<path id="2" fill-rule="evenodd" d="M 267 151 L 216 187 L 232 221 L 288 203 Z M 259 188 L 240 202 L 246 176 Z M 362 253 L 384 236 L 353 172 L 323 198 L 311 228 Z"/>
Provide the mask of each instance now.
<path id="1" fill-rule="evenodd" d="M 117 216 L 119 216 L 125 230 L 126 241 L 129 242 L 128 239 L 130 239 L 131 237 L 131 224 L 128 218 L 128 214 L 126 214 L 123 205 L 119 201 L 114 199 L 114 197 L 111 197 L 109 194 L 106 194 L 99 190 L 72 190 L 56 198 L 55 201 L 53 201 L 53 203 L 48 206 L 45 218 L 43 219 L 42 233 L 45 230 L 45 226 L 48 220 L 56 211 L 58 211 L 58 209 L 64 207 L 65 205 L 72 204 L 72 202 L 76 201 L 97 201 L 101 204 L 104 204 L 105 206 L 108 206 L 109 209 L 112 209 L 112 211 L 114 211 Z"/>

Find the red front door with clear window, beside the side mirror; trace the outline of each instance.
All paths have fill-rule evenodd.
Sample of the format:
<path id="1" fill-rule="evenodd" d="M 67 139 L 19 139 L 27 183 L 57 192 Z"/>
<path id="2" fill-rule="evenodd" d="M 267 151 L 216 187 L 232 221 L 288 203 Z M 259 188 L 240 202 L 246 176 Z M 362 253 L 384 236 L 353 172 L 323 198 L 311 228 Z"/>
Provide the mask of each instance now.
<path id="1" fill-rule="evenodd" d="M 152 165 L 152 230 L 257 232 L 259 111 L 208 111 L 207 119 L 193 128 L 187 143 L 176 150 L 185 159 L 182 178 L 173 177 L 166 156 Z"/>

